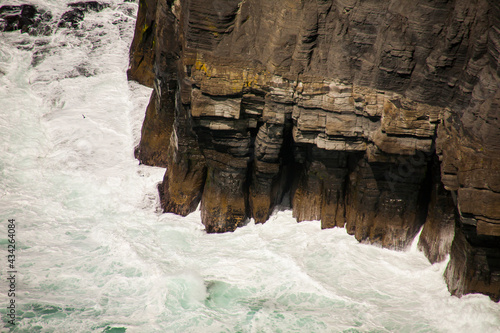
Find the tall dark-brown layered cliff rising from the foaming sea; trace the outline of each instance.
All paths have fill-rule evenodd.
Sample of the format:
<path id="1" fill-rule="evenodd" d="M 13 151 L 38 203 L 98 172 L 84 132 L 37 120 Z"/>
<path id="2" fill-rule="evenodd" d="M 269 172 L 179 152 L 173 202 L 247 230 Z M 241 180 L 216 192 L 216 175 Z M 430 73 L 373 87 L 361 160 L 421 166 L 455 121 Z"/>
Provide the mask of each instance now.
<path id="1" fill-rule="evenodd" d="M 225 232 L 289 205 L 394 249 L 423 225 L 452 293 L 500 298 L 498 1 L 144 0 L 137 22 L 165 211 L 201 200 Z"/>

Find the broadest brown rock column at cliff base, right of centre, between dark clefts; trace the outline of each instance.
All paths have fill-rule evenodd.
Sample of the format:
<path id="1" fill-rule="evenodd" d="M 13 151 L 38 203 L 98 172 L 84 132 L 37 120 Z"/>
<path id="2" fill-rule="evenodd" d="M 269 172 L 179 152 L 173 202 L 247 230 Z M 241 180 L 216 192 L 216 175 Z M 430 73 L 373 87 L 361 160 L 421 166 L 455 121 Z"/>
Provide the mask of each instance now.
<path id="1" fill-rule="evenodd" d="M 410 158 L 398 164 L 360 160 L 349 176 L 347 232 L 362 242 L 407 248 L 424 223 L 426 170 L 426 163 Z"/>

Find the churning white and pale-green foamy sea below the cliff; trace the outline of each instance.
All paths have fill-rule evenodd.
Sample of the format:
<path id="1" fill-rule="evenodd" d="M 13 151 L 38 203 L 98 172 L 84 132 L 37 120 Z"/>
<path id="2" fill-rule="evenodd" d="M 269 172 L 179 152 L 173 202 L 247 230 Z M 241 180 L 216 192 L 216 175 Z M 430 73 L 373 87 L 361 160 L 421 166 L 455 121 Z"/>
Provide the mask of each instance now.
<path id="1" fill-rule="evenodd" d="M 68 2 L 30 1 L 54 18 Z M 3 331 L 500 331 L 500 304 L 450 296 L 446 262 L 431 265 L 415 245 L 359 244 L 290 211 L 216 235 L 199 211 L 162 214 L 165 170 L 133 156 L 151 93 L 125 74 L 137 4 L 107 3 L 79 29 L 0 33 Z"/>

